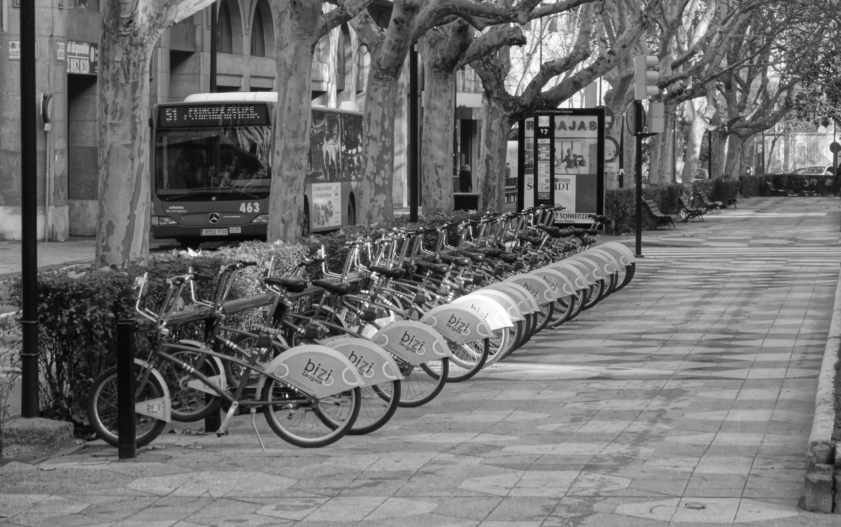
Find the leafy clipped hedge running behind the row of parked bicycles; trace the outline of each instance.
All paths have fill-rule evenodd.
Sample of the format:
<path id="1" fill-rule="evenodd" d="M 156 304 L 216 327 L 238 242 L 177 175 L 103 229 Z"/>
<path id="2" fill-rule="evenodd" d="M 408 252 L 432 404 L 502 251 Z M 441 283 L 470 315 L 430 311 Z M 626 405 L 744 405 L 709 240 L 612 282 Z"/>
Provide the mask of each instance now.
<path id="1" fill-rule="evenodd" d="M 458 212 L 429 217 L 412 226 L 437 228 L 442 223 L 474 217 L 476 213 Z M 395 224 L 409 225 L 409 222 L 407 219 L 398 219 Z M 38 314 L 42 374 L 41 414 L 44 417 L 71 421 L 76 425 L 77 432 L 85 433 L 85 400 L 88 387 L 100 372 L 116 362 L 115 323 L 119 319 L 137 316 L 134 305 L 135 279 L 143 273 L 149 273 L 150 290 L 157 288 L 158 291 L 157 297 L 152 295 L 151 304 L 160 305 L 156 303 L 156 299 L 161 300 L 167 290 L 164 280 L 187 272 L 191 266 L 202 274 L 213 275 L 219 271 L 220 266 L 230 261 L 267 262 L 275 256 L 275 265 L 280 272 L 304 256 L 315 254 L 321 245 L 325 245 L 330 270 L 341 272 L 345 260 L 344 245 L 347 241 L 355 240 L 358 236 L 377 238 L 389 231 L 390 228 L 380 229 L 376 226 L 352 226 L 333 233 L 309 236 L 299 244 L 246 241 L 238 247 L 202 251 L 195 256 L 184 251 L 155 255 L 147 266 L 127 265 L 117 269 L 74 266 L 58 271 L 40 272 Z M 454 233 L 455 228 L 451 234 Z M 451 241 L 454 239 L 451 238 Z M 244 269 L 230 298 L 245 298 L 264 293 L 263 270 L 262 266 Z M 320 277 L 320 269 L 313 271 L 309 278 Z M 21 308 L 20 277 L 9 278 L 3 285 L 3 291 L 8 293 L 7 298 L 0 299 L 2 303 Z M 185 300 L 189 302 L 188 298 Z M 235 325 L 237 319 L 229 319 L 228 322 Z M 177 333 L 173 335 L 177 335 L 177 338 L 203 337 L 202 324 L 175 330 Z M 19 322 L 8 316 L 0 320 L 0 331 L 11 335 L 2 341 L 6 347 L 0 348 L 7 351 L 5 354 L 0 353 L 0 366 L 3 366 L 3 356 L 19 356 Z M 149 342 L 148 339 L 139 339 L 138 356 L 148 351 Z M 3 378 L 0 378 L 0 390 L 3 390 L 4 386 Z M 7 392 L 0 393 L 0 406 L 4 400 L 4 393 Z"/>

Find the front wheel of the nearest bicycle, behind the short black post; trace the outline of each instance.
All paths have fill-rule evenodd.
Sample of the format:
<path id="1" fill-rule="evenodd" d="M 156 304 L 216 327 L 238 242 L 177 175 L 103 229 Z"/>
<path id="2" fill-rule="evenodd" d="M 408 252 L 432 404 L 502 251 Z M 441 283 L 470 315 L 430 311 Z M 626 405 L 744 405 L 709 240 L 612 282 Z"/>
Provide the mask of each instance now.
<path id="1" fill-rule="evenodd" d="M 135 364 L 135 379 L 143 377 L 144 366 Z M 163 387 L 153 375 L 145 387 L 135 393 L 135 401 L 142 402 L 163 397 Z M 119 445 L 119 411 L 117 406 L 117 366 L 111 366 L 93 380 L 87 393 L 87 419 L 99 439 L 111 446 Z M 143 414 L 135 414 L 135 440 L 137 446 L 151 443 L 161 435 L 166 421 Z"/>

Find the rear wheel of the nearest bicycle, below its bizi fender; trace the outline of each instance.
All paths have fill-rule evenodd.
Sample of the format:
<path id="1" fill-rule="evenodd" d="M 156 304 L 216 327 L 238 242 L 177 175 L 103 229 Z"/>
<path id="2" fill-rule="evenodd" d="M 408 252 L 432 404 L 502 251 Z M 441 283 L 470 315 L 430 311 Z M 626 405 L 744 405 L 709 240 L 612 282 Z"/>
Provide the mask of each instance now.
<path id="1" fill-rule="evenodd" d="M 268 425 L 288 443 L 303 448 L 331 445 L 345 435 L 359 414 L 362 395 L 358 387 L 310 404 L 304 396 L 282 382 L 270 379 L 262 400 Z"/>

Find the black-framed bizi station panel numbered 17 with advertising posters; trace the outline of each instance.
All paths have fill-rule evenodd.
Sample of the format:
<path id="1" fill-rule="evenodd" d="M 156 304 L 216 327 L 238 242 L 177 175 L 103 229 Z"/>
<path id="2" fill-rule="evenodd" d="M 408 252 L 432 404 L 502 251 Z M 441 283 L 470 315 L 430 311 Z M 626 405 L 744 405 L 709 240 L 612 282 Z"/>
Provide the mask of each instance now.
<path id="1" fill-rule="evenodd" d="M 565 210 L 558 216 L 562 223 L 589 224 L 589 214 L 604 213 L 604 109 L 559 109 L 535 113 L 532 123 L 529 120 L 524 134 L 523 205 L 563 205 Z M 528 155 L 528 146 L 533 155 Z M 534 176 L 527 173 L 529 169 Z M 527 195 L 529 179 L 532 196 Z"/>

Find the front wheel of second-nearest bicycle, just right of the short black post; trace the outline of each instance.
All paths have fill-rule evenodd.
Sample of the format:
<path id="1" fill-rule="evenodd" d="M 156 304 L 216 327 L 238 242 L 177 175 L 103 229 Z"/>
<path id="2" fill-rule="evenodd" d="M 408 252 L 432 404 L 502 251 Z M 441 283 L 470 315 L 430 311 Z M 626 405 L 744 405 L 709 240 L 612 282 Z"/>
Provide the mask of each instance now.
<path id="1" fill-rule="evenodd" d="M 219 366 L 216 365 L 215 361 L 210 361 L 208 356 L 198 348 L 196 351 L 179 349 L 165 351 L 167 355 L 187 363 L 205 377 L 214 377 L 220 374 Z M 219 395 L 188 387 L 187 383 L 193 381 L 196 377 L 190 375 L 181 366 L 169 361 L 162 361 L 157 370 L 161 373 L 164 382 L 167 382 L 172 405 L 170 416 L 173 421 L 194 423 L 219 410 L 221 402 Z"/>

